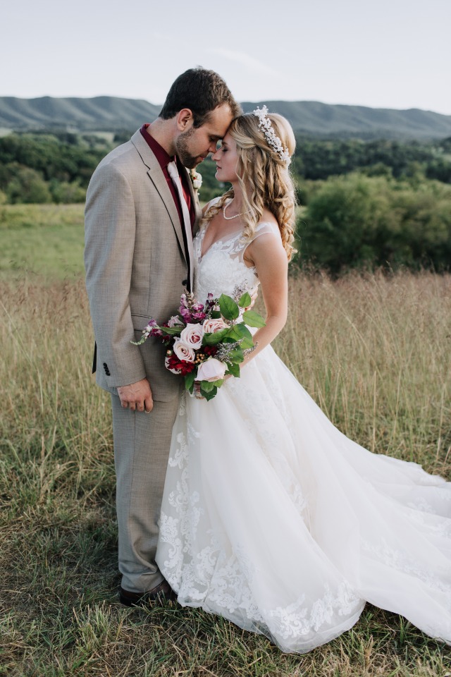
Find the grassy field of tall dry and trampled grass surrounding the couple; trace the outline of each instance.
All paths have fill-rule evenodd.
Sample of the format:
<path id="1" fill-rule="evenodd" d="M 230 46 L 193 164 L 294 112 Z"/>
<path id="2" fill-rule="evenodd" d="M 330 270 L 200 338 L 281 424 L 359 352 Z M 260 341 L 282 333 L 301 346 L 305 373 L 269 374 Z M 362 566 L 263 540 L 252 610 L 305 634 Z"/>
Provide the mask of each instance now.
<path id="1" fill-rule="evenodd" d="M 90 374 L 78 207 L 49 208 L 54 226 L 44 208 L 28 226 L 23 207 L 9 209 L 16 254 L 30 233 L 35 249 L 28 272 L 4 263 L 0 279 L 0 674 L 451 674 L 451 647 L 369 605 L 348 633 L 294 656 L 202 611 L 118 604 L 111 416 Z M 41 276 L 52 227 L 64 254 Z M 10 231 L 0 231 L 2 246 Z M 451 479 L 451 276 L 293 277 L 275 347 L 342 432 Z"/>

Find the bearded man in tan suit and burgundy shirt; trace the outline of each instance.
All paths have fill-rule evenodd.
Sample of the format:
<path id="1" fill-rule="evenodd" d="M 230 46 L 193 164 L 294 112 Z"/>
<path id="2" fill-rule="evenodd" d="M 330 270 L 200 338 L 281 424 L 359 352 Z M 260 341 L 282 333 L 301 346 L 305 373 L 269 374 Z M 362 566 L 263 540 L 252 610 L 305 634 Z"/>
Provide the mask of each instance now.
<path id="1" fill-rule="evenodd" d="M 171 597 L 154 561 L 161 497 L 180 379 L 149 338 L 190 286 L 192 234 L 200 209 L 185 167 L 215 152 L 239 114 L 214 71 L 191 68 L 169 90 L 159 117 L 99 164 L 87 190 L 85 268 L 97 342 L 97 384 L 111 393 L 119 597 L 123 604 Z M 190 255 L 191 252 L 191 255 Z M 96 356 L 94 355 L 94 370 Z"/>

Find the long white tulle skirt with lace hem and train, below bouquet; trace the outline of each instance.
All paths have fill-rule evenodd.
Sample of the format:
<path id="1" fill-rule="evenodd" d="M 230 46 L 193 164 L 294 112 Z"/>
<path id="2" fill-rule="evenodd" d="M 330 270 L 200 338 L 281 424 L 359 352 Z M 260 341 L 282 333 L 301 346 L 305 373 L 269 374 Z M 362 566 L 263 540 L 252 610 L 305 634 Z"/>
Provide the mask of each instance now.
<path id="1" fill-rule="evenodd" d="M 173 428 L 156 561 L 183 606 L 307 652 L 366 601 L 451 643 L 451 482 L 347 439 L 271 347 Z"/>

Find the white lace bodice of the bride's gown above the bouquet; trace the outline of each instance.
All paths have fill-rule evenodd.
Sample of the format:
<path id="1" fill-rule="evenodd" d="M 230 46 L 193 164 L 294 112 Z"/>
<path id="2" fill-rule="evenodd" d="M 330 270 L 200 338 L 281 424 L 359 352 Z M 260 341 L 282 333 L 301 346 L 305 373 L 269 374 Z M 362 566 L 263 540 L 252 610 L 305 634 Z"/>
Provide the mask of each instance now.
<path id="1" fill-rule="evenodd" d="M 204 303 L 209 293 L 215 297 L 232 295 L 235 286 L 254 290 L 259 284 L 257 271 L 247 267 L 244 254 L 247 246 L 264 233 L 278 233 L 275 224 L 264 221 L 255 229 L 252 240 L 243 242 L 242 230 L 230 237 L 214 242 L 202 256 L 202 246 L 210 222 L 204 224 L 194 238 L 194 295 Z"/>

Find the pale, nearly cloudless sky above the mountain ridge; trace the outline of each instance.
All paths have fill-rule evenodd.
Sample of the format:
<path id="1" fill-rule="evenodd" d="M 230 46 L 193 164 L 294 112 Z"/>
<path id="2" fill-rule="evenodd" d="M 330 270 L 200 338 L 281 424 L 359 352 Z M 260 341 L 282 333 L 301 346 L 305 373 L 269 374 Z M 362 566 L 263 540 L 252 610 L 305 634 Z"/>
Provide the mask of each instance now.
<path id="1" fill-rule="evenodd" d="M 0 96 L 161 104 L 193 66 L 239 101 L 451 115 L 451 0 L 6 0 Z"/>

